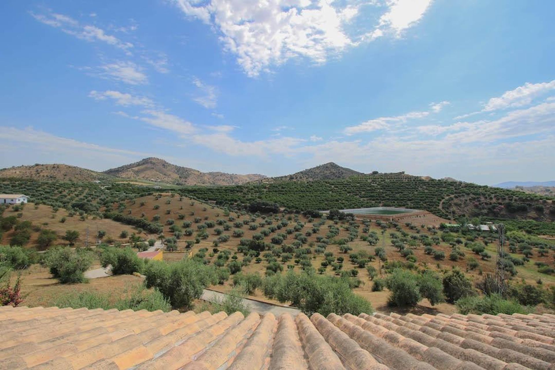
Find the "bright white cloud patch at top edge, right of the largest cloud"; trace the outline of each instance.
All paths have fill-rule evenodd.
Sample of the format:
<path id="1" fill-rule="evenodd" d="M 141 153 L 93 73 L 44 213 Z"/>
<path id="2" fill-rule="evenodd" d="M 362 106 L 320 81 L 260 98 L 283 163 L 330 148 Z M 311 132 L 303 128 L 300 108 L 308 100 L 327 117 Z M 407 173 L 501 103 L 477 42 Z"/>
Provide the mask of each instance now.
<path id="1" fill-rule="evenodd" d="M 380 30 L 402 31 L 420 21 L 432 0 L 387 0 L 388 11 L 380 17 Z"/>

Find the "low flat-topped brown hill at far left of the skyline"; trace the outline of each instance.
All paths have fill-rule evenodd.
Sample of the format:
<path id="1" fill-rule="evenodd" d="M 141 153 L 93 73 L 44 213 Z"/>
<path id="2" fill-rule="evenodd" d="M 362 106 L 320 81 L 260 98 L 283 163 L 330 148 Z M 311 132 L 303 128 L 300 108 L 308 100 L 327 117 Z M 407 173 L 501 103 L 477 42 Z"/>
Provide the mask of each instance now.
<path id="1" fill-rule="evenodd" d="M 67 164 L 34 164 L 17 166 L 0 170 L 0 178 L 24 178 L 34 180 L 59 181 L 95 181 L 109 179 L 112 176 L 93 170 L 69 166 Z"/>

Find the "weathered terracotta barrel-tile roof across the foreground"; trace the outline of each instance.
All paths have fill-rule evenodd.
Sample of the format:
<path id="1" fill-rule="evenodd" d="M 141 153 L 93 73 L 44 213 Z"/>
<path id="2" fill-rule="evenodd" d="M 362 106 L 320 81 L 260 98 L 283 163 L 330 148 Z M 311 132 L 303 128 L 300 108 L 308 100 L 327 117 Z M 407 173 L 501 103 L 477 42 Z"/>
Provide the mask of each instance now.
<path id="1" fill-rule="evenodd" d="M 555 315 L 0 307 L 2 369 L 549 370 Z"/>

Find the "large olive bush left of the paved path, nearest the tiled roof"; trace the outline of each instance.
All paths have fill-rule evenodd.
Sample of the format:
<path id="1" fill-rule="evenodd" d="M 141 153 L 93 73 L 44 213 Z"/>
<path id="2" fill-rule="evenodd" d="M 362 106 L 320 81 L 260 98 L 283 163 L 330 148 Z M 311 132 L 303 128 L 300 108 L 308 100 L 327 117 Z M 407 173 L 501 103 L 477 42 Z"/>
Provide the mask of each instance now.
<path id="1" fill-rule="evenodd" d="M 150 261 L 144 275 L 145 285 L 158 288 L 173 308 L 191 308 L 206 286 L 218 282 L 214 268 L 189 259 L 171 264 Z"/>

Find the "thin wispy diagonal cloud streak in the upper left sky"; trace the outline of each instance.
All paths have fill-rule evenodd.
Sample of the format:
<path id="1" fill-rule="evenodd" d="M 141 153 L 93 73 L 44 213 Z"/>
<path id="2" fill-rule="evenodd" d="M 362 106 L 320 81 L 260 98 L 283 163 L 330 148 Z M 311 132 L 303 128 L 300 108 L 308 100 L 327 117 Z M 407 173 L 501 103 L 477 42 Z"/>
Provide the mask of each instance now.
<path id="1" fill-rule="evenodd" d="M 87 40 L 89 42 L 102 41 L 123 50 L 133 48 L 132 43 L 124 42 L 115 36 L 106 34 L 103 29 L 96 26 L 81 24 L 75 19 L 65 16 L 64 14 L 58 14 L 52 11 L 48 11 L 45 14 L 35 14 L 31 12 L 31 16 L 41 23 L 59 28 L 63 32 L 82 40 Z"/>

